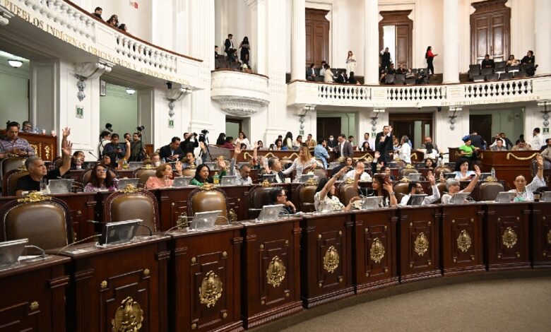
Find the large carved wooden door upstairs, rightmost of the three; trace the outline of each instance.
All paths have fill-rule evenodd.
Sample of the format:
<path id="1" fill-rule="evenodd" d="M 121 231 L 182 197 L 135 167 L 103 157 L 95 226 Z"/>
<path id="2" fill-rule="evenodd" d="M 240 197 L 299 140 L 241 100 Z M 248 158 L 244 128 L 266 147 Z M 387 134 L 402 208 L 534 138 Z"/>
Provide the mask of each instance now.
<path id="1" fill-rule="evenodd" d="M 485 54 L 494 61 L 504 61 L 510 54 L 511 8 L 507 0 L 488 0 L 472 4 L 470 15 L 471 63 L 478 64 Z"/>

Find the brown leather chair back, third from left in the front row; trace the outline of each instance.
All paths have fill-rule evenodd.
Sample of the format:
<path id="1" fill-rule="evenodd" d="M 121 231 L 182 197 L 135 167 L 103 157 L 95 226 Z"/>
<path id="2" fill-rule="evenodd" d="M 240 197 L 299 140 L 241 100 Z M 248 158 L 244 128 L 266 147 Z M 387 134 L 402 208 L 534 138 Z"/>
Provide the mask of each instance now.
<path id="1" fill-rule="evenodd" d="M 203 186 L 189 193 L 187 200 L 187 211 L 190 216 L 198 212 L 208 212 L 220 210 L 220 217 L 216 219 L 216 225 L 227 225 L 228 213 L 226 205 L 226 194 L 222 189 L 212 186 Z M 225 218 L 222 218 L 225 217 Z"/>

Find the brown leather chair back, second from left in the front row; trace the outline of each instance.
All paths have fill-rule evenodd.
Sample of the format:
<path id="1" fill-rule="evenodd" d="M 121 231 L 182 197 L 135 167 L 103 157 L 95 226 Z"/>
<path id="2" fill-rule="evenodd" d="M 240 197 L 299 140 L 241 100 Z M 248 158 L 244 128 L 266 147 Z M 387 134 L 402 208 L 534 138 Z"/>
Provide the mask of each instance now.
<path id="1" fill-rule="evenodd" d="M 151 232 L 160 232 L 159 208 L 155 195 L 143 189 L 131 188 L 107 196 L 103 208 L 106 223 L 141 219 Z M 136 235 L 149 235 L 146 227 L 139 227 Z"/>

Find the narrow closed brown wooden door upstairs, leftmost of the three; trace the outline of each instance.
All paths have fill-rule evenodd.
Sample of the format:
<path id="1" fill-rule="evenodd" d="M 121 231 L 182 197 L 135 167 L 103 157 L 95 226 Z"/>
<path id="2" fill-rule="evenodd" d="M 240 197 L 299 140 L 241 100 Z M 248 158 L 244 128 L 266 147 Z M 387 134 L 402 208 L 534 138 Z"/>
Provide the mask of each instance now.
<path id="1" fill-rule="evenodd" d="M 329 61 L 329 11 L 306 8 L 306 64 Z"/>

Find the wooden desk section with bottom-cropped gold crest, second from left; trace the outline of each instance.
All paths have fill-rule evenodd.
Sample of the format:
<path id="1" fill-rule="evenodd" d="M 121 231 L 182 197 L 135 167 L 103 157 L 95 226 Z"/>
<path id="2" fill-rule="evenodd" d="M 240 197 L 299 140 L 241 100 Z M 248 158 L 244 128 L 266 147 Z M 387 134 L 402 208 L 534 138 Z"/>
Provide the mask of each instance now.
<path id="1" fill-rule="evenodd" d="M 169 239 L 154 235 L 113 247 L 80 244 L 62 251 L 72 259 L 67 330 L 123 331 L 120 319 L 139 317 L 139 310 L 124 316 L 131 306 L 143 311 L 143 331 L 167 331 Z"/>

